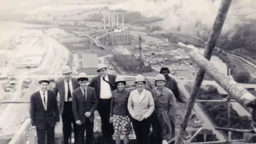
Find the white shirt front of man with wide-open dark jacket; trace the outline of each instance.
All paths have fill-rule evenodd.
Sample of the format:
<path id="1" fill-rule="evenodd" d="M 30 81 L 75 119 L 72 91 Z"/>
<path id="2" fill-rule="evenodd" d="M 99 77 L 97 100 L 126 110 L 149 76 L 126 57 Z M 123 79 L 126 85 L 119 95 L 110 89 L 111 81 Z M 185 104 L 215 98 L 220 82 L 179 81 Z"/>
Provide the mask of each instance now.
<path id="1" fill-rule="evenodd" d="M 105 80 L 109 82 L 108 75 L 106 75 Z M 111 99 L 112 92 L 110 89 L 109 83 L 103 81 L 103 78 L 100 77 L 100 98 L 101 99 Z"/>

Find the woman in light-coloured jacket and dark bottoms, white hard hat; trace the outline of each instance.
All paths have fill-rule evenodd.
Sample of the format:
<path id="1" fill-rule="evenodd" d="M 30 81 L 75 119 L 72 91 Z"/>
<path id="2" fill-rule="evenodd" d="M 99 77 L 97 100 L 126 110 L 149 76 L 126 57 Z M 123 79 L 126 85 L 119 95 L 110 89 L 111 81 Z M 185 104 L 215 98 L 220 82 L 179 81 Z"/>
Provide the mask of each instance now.
<path id="1" fill-rule="evenodd" d="M 149 143 L 150 116 L 155 108 L 152 94 L 145 90 L 145 80 L 142 75 L 135 77 L 137 89 L 131 91 L 127 104 L 138 144 Z"/>

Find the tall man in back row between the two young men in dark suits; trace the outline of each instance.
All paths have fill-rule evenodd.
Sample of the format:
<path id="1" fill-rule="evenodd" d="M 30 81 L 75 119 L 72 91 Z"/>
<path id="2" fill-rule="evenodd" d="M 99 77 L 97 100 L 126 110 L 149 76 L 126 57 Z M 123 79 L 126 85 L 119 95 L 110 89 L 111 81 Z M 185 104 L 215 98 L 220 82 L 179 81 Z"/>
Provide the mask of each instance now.
<path id="1" fill-rule="evenodd" d="M 63 124 L 63 141 L 64 144 L 69 143 L 71 124 L 73 124 L 75 144 L 77 144 L 78 128 L 72 111 L 72 92 L 79 87 L 79 84 L 75 78 L 71 77 L 72 70 L 69 66 L 63 66 L 61 70 L 63 78 L 56 82 L 53 90 L 60 95 L 59 109 Z"/>

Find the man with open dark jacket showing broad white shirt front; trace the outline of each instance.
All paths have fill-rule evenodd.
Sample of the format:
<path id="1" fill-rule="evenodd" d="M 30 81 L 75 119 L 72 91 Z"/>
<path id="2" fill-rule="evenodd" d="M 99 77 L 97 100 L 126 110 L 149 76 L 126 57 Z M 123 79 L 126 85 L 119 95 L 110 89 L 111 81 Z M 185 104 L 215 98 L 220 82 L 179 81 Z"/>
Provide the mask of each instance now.
<path id="1" fill-rule="evenodd" d="M 115 79 L 116 75 L 107 73 L 106 65 L 100 63 L 98 65 L 99 76 L 92 78 L 89 86 L 94 87 L 96 96 L 99 99 L 97 110 L 101 117 L 101 131 L 106 143 L 110 143 L 114 134 L 113 124 L 109 123 L 110 105 L 112 92 L 116 90 Z"/>

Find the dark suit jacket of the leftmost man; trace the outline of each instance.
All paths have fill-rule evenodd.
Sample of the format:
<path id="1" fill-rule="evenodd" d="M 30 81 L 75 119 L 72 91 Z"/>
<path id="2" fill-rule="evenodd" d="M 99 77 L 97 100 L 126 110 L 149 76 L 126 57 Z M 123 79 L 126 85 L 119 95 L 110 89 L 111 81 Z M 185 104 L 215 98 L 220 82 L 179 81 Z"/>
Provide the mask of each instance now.
<path id="1" fill-rule="evenodd" d="M 44 109 L 39 91 L 31 95 L 30 118 L 32 126 L 36 125 L 37 129 L 45 129 L 47 123 L 51 127 L 54 127 L 56 122 L 60 121 L 58 102 L 55 92 L 47 90 L 47 110 Z"/>

